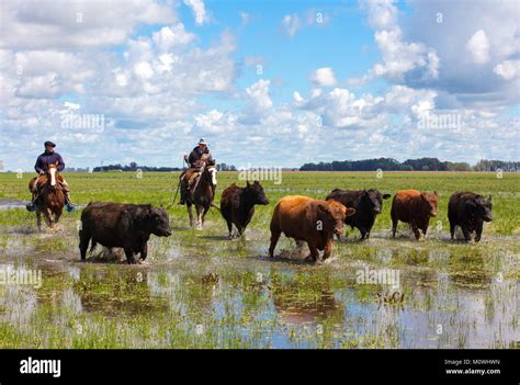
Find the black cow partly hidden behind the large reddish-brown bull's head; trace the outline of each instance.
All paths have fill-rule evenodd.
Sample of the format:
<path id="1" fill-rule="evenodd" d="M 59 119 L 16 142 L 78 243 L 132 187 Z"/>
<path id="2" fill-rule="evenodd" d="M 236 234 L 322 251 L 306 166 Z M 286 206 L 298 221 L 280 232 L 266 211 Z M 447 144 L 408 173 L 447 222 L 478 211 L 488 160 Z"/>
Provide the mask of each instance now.
<path id="1" fill-rule="evenodd" d="M 346 207 L 355 210 L 355 214 L 348 216 L 344 223 L 351 228 L 358 228 L 361 239 L 370 237 L 375 216 L 383 210 L 383 200 L 391 197 L 391 194 L 382 194 L 377 190 L 340 190 L 335 189 L 327 195 L 326 200 L 335 200 Z"/>

